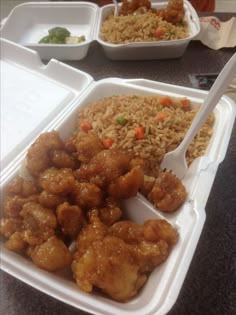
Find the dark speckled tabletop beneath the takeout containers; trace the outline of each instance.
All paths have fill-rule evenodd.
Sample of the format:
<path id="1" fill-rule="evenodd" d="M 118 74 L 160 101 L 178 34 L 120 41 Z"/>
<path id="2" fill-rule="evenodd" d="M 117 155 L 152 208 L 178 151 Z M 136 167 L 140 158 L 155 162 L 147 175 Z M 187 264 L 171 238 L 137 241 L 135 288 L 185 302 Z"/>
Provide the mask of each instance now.
<path id="1" fill-rule="evenodd" d="M 218 16 L 227 20 L 232 14 Z M 145 78 L 192 87 L 189 75 L 220 72 L 234 52 L 235 49 L 211 50 L 193 41 L 179 59 L 111 61 L 105 57 L 102 48 L 93 43 L 84 60 L 66 63 L 88 72 L 95 80 L 107 77 Z M 194 257 L 177 302 L 168 315 L 236 314 L 235 187 L 236 124 L 206 205 L 206 221 Z M 0 286 L 1 314 L 87 314 L 2 271 Z"/>

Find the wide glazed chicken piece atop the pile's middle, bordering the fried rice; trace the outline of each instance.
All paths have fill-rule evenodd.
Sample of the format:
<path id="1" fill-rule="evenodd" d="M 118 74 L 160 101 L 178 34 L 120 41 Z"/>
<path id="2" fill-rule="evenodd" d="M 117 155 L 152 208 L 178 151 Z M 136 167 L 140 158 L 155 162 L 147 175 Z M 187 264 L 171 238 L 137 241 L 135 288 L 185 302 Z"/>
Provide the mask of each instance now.
<path id="1" fill-rule="evenodd" d="M 130 156 L 118 150 L 103 150 L 98 152 L 88 164 L 83 164 L 76 176 L 80 181 L 94 183 L 106 187 L 116 178 L 129 170 Z"/>

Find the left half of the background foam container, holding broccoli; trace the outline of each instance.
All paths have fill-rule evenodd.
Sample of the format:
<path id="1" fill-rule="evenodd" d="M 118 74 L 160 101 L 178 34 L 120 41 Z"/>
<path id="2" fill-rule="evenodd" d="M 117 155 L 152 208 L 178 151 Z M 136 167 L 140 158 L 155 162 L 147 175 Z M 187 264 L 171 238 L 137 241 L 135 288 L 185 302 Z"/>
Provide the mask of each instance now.
<path id="1" fill-rule="evenodd" d="M 28 2 L 16 6 L 3 23 L 0 37 L 36 50 L 41 59 L 79 60 L 94 40 L 99 7 L 89 2 Z M 84 35 L 79 44 L 38 44 L 48 30 L 61 26 L 71 36 Z"/>

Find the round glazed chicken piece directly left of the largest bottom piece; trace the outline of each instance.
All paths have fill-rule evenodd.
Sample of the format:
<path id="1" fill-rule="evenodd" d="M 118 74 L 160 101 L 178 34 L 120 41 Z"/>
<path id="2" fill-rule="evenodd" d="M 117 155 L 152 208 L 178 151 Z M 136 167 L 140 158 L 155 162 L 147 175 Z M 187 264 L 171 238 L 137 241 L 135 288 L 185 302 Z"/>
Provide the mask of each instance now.
<path id="1" fill-rule="evenodd" d="M 69 249 L 55 235 L 40 245 L 31 246 L 27 253 L 36 266 L 48 271 L 63 269 L 72 262 Z"/>

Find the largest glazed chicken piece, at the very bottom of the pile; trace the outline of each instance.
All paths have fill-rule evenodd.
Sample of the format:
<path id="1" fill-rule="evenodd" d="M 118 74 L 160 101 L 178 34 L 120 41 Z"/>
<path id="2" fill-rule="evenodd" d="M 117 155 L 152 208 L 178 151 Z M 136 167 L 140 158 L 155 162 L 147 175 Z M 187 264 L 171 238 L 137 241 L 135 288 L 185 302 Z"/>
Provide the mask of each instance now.
<path id="1" fill-rule="evenodd" d="M 96 287 L 120 302 L 135 296 L 147 279 L 139 272 L 129 245 L 114 236 L 93 242 L 73 261 L 72 271 L 81 290 L 91 292 Z"/>

